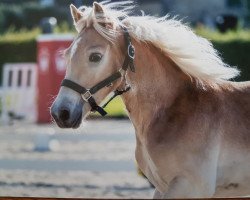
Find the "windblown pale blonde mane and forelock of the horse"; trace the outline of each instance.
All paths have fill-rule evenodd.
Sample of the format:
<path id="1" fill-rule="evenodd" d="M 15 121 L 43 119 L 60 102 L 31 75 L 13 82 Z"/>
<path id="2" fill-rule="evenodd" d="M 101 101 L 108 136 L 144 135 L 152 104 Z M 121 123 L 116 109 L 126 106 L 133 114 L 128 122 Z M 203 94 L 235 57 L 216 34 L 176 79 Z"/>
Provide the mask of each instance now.
<path id="1" fill-rule="evenodd" d="M 80 7 L 82 19 L 75 26 L 80 32 L 84 27 L 93 25 L 104 38 L 114 41 L 116 28 L 126 26 L 132 38 L 154 45 L 161 53 L 172 59 L 177 66 L 200 83 L 220 82 L 239 75 L 239 70 L 222 61 L 211 42 L 197 36 L 180 20 L 169 16 L 129 16 L 133 10 L 132 1 L 101 3 L 104 13 L 94 16 L 91 7 Z M 100 23 L 111 23 L 113 29 Z"/>

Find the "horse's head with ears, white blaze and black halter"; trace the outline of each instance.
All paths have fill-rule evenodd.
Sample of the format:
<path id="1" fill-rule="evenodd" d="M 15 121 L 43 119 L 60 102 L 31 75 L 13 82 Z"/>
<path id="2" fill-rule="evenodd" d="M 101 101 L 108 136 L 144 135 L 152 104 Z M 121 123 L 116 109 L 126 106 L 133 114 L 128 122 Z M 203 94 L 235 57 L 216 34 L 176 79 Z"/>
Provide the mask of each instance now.
<path id="1" fill-rule="evenodd" d="M 54 120 L 62 128 L 79 127 L 91 110 L 103 114 L 98 105 L 122 84 L 124 41 L 129 40 L 124 40 L 119 20 L 108 17 L 101 4 L 94 2 L 93 8 L 79 9 L 71 5 L 70 10 L 78 34 L 65 50 L 65 80 L 51 107 Z"/>

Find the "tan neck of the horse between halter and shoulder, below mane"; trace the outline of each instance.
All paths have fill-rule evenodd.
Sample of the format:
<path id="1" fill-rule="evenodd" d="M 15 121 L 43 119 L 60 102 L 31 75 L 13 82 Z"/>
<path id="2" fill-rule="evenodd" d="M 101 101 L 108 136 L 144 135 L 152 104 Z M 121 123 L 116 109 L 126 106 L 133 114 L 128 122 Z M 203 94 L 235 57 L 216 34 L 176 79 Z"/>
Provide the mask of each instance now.
<path id="1" fill-rule="evenodd" d="M 135 42 L 135 49 L 136 72 L 128 71 L 126 77 L 132 89 L 122 98 L 135 128 L 142 131 L 173 104 L 190 78 L 152 45 Z"/>

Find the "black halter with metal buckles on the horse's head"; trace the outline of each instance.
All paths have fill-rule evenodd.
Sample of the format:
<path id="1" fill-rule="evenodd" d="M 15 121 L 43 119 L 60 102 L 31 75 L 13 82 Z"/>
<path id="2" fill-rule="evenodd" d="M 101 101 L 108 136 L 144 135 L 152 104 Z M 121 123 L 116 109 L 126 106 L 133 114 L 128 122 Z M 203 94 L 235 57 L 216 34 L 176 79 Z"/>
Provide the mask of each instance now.
<path id="1" fill-rule="evenodd" d="M 105 116 L 107 112 L 104 110 L 104 108 L 108 105 L 109 102 L 111 102 L 116 96 L 123 94 L 124 92 L 127 92 L 130 90 L 130 86 L 125 87 L 123 90 L 115 90 L 113 93 L 113 96 L 102 106 L 98 106 L 93 94 L 98 92 L 100 89 L 104 87 L 109 87 L 112 85 L 114 81 L 117 79 L 125 76 L 125 72 L 127 71 L 128 67 L 130 67 L 130 70 L 132 72 L 135 72 L 135 67 L 134 67 L 134 58 L 135 58 L 135 48 L 131 43 L 131 38 L 129 36 L 128 30 L 125 27 L 122 27 L 123 33 L 124 33 L 124 39 L 125 39 L 125 44 L 127 46 L 127 52 L 125 55 L 125 60 L 123 62 L 122 67 L 112 75 L 108 76 L 101 82 L 97 83 L 95 86 L 93 86 L 90 89 L 86 89 L 85 87 L 71 81 L 68 79 L 64 79 L 61 83 L 61 86 L 68 87 L 77 93 L 79 93 L 82 97 L 82 99 L 89 103 L 91 106 L 91 111 L 93 112 L 99 112 L 102 116 Z"/>

